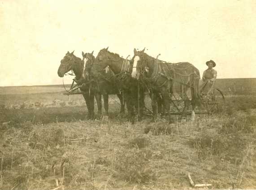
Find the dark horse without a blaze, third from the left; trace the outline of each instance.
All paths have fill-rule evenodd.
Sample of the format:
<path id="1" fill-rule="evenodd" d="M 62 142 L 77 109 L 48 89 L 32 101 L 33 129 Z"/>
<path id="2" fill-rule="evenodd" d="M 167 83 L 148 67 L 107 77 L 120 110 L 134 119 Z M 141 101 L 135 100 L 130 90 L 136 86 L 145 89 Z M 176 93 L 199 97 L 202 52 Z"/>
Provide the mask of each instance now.
<path id="1" fill-rule="evenodd" d="M 128 57 L 127 57 L 128 58 Z M 129 60 L 123 59 L 120 55 L 108 51 L 107 48 L 100 50 L 92 65 L 92 72 L 97 72 L 106 67 L 111 68 L 115 76 L 113 77 L 118 89 L 124 93 L 126 107 L 128 110 L 128 119 L 135 122 L 135 111 L 138 118 L 143 115 L 144 93 L 142 86 L 130 75 L 132 65 Z"/>

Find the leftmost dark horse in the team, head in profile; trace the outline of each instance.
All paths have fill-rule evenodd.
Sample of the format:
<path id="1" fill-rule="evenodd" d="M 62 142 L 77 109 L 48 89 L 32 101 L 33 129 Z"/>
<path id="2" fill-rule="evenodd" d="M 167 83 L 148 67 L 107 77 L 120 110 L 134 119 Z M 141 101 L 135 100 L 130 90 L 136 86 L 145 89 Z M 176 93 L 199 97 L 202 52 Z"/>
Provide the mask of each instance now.
<path id="1" fill-rule="evenodd" d="M 58 76 L 63 77 L 66 72 L 73 70 L 75 74 L 75 82 L 77 84 L 82 84 L 84 82 L 84 78 L 82 76 L 84 68 L 84 62 L 82 59 L 76 57 L 74 55 L 74 51 L 66 53 L 63 59 L 61 59 L 61 64 L 58 68 Z M 94 95 L 89 91 L 89 85 L 83 85 L 80 87 L 82 91 L 82 96 L 85 99 L 87 110 L 88 110 L 88 117 L 90 119 L 94 118 Z"/>

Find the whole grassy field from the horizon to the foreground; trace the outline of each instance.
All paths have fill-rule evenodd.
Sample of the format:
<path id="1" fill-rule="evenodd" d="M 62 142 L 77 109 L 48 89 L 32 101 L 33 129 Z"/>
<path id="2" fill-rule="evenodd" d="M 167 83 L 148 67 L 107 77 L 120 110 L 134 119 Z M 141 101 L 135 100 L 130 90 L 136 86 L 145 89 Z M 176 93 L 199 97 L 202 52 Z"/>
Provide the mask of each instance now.
<path id="1" fill-rule="evenodd" d="M 0 87 L 0 189 L 198 189 L 188 173 L 208 189 L 256 189 L 256 79 L 216 85 L 224 112 L 170 125 L 117 118 L 115 96 L 91 121 L 61 85 Z"/>

